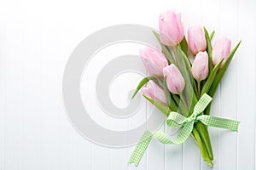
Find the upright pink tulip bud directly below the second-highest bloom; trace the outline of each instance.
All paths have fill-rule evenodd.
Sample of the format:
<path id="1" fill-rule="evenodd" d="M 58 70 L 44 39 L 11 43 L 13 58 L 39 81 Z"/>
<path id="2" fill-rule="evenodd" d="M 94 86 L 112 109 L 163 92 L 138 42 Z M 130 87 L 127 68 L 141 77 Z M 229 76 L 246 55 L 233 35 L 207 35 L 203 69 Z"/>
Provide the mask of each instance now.
<path id="1" fill-rule="evenodd" d="M 192 75 L 197 80 L 205 80 L 208 76 L 208 54 L 207 52 L 199 52 L 195 56 L 195 61 L 192 65 Z"/>

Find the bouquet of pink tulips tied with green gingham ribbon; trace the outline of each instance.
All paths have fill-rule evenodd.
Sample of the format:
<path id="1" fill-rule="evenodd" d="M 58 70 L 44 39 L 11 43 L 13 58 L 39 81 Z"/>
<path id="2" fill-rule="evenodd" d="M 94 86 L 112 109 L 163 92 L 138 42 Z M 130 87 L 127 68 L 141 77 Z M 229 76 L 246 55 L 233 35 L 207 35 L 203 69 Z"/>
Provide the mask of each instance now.
<path id="1" fill-rule="evenodd" d="M 229 122 L 228 119 L 215 117 L 215 122 L 209 123 L 209 117 L 211 117 L 209 116 L 211 107 L 208 105 L 209 102 L 199 111 L 198 115 L 201 118 L 196 120 L 195 110 L 198 111 L 198 107 L 200 107 L 196 105 L 203 103 L 206 95 L 214 96 L 218 83 L 224 77 L 240 42 L 230 51 L 230 39 L 223 37 L 219 38 L 212 47 L 214 31 L 208 34 L 207 29 L 201 26 L 189 27 L 188 36 L 184 37 L 181 14 L 177 14 L 175 11 L 160 14 L 159 28 L 160 33 L 153 32 L 160 42 L 161 50 L 150 47 L 140 49 L 140 56 L 150 76 L 143 78 L 138 84 L 133 97 L 142 88 L 142 94 L 149 102 L 167 117 L 171 116 L 172 121 L 168 122 L 167 119 L 167 124 L 172 124 L 172 127 L 184 128 L 189 121 L 193 120 L 191 129 L 187 129 L 189 135 L 198 144 L 202 159 L 212 167 L 213 154 L 207 125 L 237 130 L 224 126 L 229 123 L 230 126 L 234 124 L 238 126 L 239 122 Z M 195 109 L 195 107 L 197 108 Z M 189 117 L 189 119 L 183 117 Z M 203 118 L 209 122 L 202 120 Z M 177 121 L 173 122 L 174 119 Z M 183 124 L 179 122 L 183 122 Z M 225 122 L 227 123 L 225 124 Z M 147 144 L 153 136 L 163 144 L 183 142 L 182 135 L 180 135 L 181 137 L 178 135 L 179 139 L 175 142 L 167 139 L 163 133 L 149 133 L 147 138 L 144 134 L 137 144 L 130 162 L 138 164 L 141 158 L 140 153 L 146 150 Z"/>

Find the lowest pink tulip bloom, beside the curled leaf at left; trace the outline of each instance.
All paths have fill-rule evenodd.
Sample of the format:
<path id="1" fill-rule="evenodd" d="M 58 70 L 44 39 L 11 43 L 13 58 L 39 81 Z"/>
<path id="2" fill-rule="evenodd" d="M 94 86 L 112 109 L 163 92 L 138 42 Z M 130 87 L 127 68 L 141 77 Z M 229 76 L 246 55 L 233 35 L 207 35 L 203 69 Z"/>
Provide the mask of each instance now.
<path id="1" fill-rule="evenodd" d="M 149 80 L 147 85 L 142 89 L 143 94 L 157 102 L 166 104 L 166 95 L 162 88 L 160 88 L 152 80 Z"/>

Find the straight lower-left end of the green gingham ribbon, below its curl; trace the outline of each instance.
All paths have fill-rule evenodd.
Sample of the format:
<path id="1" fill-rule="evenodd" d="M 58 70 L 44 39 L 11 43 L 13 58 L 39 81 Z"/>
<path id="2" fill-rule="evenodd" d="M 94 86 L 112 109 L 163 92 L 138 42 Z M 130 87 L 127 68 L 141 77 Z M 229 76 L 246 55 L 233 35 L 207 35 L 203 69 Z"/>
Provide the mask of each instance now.
<path id="1" fill-rule="evenodd" d="M 153 138 L 153 133 L 150 133 L 149 131 L 146 131 L 145 133 L 143 133 L 142 138 L 138 142 L 135 150 L 132 152 L 129 163 L 134 163 L 134 165 L 137 167 L 137 165 L 139 164 L 139 162 L 143 157 L 145 150 L 147 150 L 148 144 L 152 138 Z"/>

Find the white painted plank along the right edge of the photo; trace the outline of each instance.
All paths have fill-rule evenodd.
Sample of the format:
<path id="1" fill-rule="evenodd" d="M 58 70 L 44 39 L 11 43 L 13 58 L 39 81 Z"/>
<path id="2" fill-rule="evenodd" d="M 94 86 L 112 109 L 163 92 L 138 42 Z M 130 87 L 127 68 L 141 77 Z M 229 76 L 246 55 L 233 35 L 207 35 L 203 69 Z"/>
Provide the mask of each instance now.
<path id="1" fill-rule="evenodd" d="M 255 1 L 239 1 L 237 169 L 255 169 L 255 6 Z"/>

